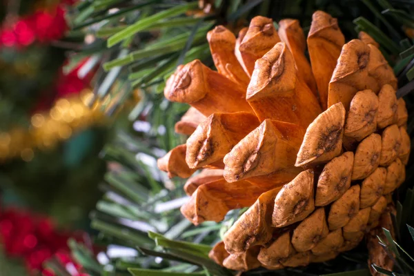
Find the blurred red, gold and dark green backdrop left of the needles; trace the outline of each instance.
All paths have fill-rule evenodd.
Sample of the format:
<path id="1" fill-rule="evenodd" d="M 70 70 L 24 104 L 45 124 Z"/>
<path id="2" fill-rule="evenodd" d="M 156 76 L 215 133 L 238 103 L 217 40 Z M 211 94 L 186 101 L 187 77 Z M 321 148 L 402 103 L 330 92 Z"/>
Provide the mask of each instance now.
<path id="1" fill-rule="evenodd" d="M 68 59 L 72 2 L 0 4 L 0 255 L 8 255 L 0 257 L 2 276 L 40 270 L 67 248 L 72 230 L 88 229 L 101 197 L 106 164 L 98 155 L 110 124 L 87 106 L 92 72 L 79 68 L 88 57 L 75 66 Z"/>

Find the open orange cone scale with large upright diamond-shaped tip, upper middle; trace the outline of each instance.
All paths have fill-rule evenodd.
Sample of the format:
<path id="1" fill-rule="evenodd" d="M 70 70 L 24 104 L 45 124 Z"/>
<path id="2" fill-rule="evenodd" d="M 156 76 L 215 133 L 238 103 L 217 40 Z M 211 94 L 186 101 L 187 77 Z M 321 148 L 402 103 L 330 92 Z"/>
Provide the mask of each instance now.
<path id="1" fill-rule="evenodd" d="M 286 121 L 303 128 L 322 112 L 313 92 L 299 79 L 293 56 L 283 42 L 257 59 L 246 101 L 260 121 Z"/>

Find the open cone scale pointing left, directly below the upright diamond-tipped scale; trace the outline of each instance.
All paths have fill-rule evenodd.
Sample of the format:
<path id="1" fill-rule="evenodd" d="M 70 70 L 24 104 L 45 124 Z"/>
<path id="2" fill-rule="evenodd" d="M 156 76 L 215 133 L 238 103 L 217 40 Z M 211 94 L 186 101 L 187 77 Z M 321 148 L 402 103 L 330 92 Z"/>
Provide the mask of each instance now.
<path id="1" fill-rule="evenodd" d="M 224 177 L 233 182 L 292 171 L 292 180 L 302 170 L 293 162 L 303 136 L 304 130 L 295 124 L 264 120 L 224 157 Z"/>

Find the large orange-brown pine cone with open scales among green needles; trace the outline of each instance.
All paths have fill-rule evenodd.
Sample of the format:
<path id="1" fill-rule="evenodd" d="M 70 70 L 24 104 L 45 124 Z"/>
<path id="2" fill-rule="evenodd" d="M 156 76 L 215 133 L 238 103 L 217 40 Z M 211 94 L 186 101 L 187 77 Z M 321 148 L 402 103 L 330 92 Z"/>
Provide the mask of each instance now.
<path id="1" fill-rule="evenodd" d="M 208 42 L 218 72 L 192 61 L 164 90 L 199 111 L 177 127 L 191 134 L 186 145 L 159 161 L 170 177 L 203 168 L 181 212 L 199 224 L 250 206 L 210 252 L 236 270 L 306 266 L 355 248 L 380 224 L 411 148 L 378 43 L 364 32 L 345 43 L 337 20 L 317 11 L 309 63 L 299 22 L 279 26 L 255 17 L 237 38 L 217 26 Z"/>

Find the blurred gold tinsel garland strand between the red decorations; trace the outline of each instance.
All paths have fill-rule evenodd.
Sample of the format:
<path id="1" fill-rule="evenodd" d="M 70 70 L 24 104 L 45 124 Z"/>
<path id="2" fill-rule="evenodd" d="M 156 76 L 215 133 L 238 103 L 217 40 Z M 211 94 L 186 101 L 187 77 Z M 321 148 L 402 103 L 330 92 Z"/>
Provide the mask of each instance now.
<path id="1" fill-rule="evenodd" d="M 92 91 L 84 89 L 79 95 L 58 99 L 48 112 L 32 115 L 29 128 L 15 127 L 0 132 L 0 164 L 16 157 L 31 161 L 35 149 L 52 149 L 59 141 L 92 125 L 102 124 L 105 121 L 103 112 L 99 105 L 88 106 L 91 99 Z"/>

